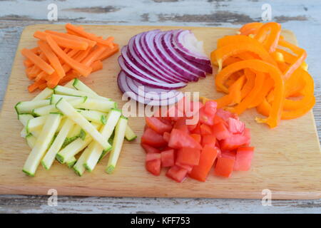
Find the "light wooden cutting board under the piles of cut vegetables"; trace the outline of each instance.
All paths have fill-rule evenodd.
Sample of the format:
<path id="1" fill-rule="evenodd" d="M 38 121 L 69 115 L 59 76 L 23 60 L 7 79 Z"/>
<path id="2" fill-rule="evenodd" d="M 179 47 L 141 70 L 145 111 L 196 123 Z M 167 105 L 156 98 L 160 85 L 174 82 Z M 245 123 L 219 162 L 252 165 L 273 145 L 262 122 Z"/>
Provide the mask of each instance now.
<path id="1" fill-rule="evenodd" d="M 120 46 L 142 31 L 175 27 L 153 26 L 84 26 L 87 31 L 103 37 L 114 36 Z M 49 189 L 56 189 L 58 195 L 86 195 L 113 197 L 213 197 L 213 198 L 262 198 L 262 191 L 272 192 L 272 199 L 317 199 L 321 197 L 321 152 L 315 120 L 312 114 L 296 120 L 284 120 L 275 129 L 255 123 L 255 110 L 248 110 L 240 116 L 251 128 L 252 145 L 255 146 L 253 165 L 248 172 L 233 172 L 229 179 L 215 177 L 213 170 L 206 182 L 188 178 L 176 183 L 165 177 L 165 170 L 159 177 L 146 172 L 145 152 L 139 145 L 143 133 L 143 118 L 129 118 L 129 123 L 138 134 L 134 142 L 125 142 L 121 157 L 113 175 L 105 170 L 107 157 L 92 172 L 78 177 L 66 165 L 55 162 L 51 170 L 39 166 L 36 177 L 24 175 L 24 165 L 30 149 L 20 137 L 22 128 L 17 120 L 14 105 L 21 100 L 31 100 L 36 94 L 27 92 L 29 80 L 24 73 L 22 48 L 33 48 L 36 30 L 54 29 L 64 31 L 63 25 L 27 26 L 12 66 L 9 85 L 0 114 L 0 194 L 46 195 Z M 205 43 L 209 54 L 216 47 L 218 38 L 235 34 L 234 28 L 188 28 Z M 296 42 L 290 31 L 283 35 L 288 41 Z M 103 70 L 82 79 L 100 95 L 121 100 L 116 77 L 119 71 L 119 53 L 103 62 Z M 190 83 L 185 91 L 200 91 L 200 95 L 218 98 L 213 76 Z"/>

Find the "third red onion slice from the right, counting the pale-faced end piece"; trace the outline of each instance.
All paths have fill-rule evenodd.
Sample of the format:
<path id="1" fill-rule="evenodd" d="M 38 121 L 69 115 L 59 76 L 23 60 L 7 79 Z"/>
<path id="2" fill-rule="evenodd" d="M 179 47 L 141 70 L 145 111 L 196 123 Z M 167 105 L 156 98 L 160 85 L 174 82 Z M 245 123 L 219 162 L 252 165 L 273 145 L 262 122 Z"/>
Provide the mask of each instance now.
<path id="1" fill-rule="evenodd" d="M 165 51 L 165 48 L 161 43 L 161 38 L 165 33 L 166 32 L 158 33 L 154 38 L 154 45 L 156 46 L 156 51 L 158 52 L 158 54 L 161 56 L 161 58 L 163 58 L 165 63 L 167 63 L 168 66 L 173 68 L 175 71 L 186 77 L 192 78 L 192 81 L 198 81 L 199 76 L 195 72 L 190 71 L 190 69 L 184 68 L 180 64 L 176 63 L 175 59 L 173 59 L 172 56 L 170 56 L 167 51 Z"/>

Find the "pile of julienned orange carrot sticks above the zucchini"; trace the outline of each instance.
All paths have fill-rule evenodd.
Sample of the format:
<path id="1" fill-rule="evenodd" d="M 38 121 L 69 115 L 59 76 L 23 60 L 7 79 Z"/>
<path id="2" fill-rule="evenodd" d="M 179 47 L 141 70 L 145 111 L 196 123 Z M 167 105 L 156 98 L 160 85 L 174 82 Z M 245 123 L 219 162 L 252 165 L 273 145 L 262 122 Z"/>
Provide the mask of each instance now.
<path id="1" fill-rule="evenodd" d="M 36 31 L 38 46 L 21 50 L 26 57 L 26 76 L 34 81 L 28 87 L 30 93 L 47 86 L 54 88 L 80 76 L 87 77 L 101 70 L 101 61 L 118 51 L 112 36 L 103 39 L 72 24 L 66 24 L 66 31 Z"/>

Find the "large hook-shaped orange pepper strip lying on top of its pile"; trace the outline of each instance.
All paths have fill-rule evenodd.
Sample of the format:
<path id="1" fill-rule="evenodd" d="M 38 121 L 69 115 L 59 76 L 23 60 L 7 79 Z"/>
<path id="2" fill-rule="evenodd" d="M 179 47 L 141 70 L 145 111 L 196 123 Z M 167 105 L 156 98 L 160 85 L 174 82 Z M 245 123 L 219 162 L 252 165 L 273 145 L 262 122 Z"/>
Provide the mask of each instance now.
<path id="1" fill-rule="evenodd" d="M 223 86 L 223 82 L 230 76 L 231 73 L 240 71 L 244 68 L 250 68 L 254 71 L 269 73 L 270 77 L 273 79 L 275 83 L 275 99 L 272 102 L 270 115 L 268 116 L 268 118 L 257 118 L 256 120 L 258 121 L 258 123 L 267 123 L 270 128 L 275 128 L 281 117 L 285 96 L 285 85 L 282 78 L 282 73 L 277 67 L 258 59 L 239 61 L 237 63 L 226 66 L 222 71 L 218 73 L 215 78 L 216 86 L 227 92 L 228 88 Z"/>

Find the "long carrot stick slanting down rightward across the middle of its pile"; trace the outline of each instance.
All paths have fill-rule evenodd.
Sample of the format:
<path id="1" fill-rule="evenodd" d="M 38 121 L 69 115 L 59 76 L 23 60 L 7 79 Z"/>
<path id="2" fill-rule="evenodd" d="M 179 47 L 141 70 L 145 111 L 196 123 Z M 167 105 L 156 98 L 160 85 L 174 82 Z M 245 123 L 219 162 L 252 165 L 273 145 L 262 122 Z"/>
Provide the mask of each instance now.
<path id="1" fill-rule="evenodd" d="M 46 41 L 48 42 L 51 49 L 56 53 L 57 56 L 63 59 L 71 68 L 81 73 L 83 76 L 88 76 L 91 73 L 91 68 L 88 66 L 83 66 L 83 64 L 73 60 L 66 53 L 64 53 L 61 48 L 58 46 L 56 41 L 54 41 L 51 36 L 46 36 Z"/>

